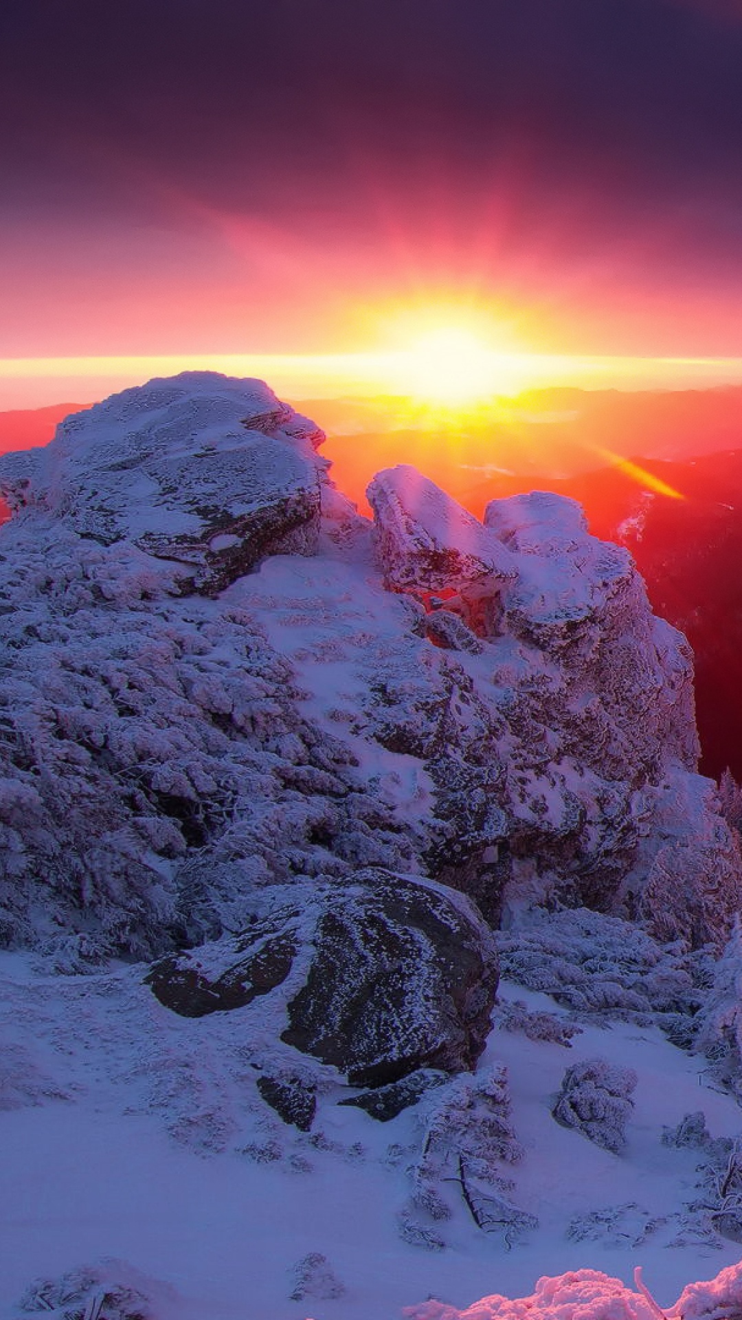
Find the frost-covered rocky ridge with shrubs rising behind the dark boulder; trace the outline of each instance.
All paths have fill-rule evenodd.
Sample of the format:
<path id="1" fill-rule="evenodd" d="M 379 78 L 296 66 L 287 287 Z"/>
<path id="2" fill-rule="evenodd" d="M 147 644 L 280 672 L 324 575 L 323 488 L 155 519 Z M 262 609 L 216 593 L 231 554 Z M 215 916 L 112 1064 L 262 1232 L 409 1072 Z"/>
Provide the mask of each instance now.
<path id="1" fill-rule="evenodd" d="M 478 523 L 411 469 L 372 529 L 318 441 L 191 374 L 0 461 L 3 941 L 152 958 L 383 867 L 492 925 L 584 904 L 724 944 L 738 842 L 627 553 L 570 500 Z M 193 1012 L 247 994 L 184 977 Z"/>

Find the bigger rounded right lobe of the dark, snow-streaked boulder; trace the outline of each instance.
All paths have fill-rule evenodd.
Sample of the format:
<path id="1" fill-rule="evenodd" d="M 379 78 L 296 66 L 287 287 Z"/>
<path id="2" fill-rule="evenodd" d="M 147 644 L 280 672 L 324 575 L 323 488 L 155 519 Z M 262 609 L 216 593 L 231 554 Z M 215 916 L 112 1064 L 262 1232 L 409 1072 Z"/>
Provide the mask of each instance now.
<path id="1" fill-rule="evenodd" d="M 411 878 L 355 879 L 362 884 L 320 916 L 317 952 L 281 1039 L 354 1086 L 383 1086 L 425 1067 L 471 1068 L 498 981 L 477 911 Z"/>

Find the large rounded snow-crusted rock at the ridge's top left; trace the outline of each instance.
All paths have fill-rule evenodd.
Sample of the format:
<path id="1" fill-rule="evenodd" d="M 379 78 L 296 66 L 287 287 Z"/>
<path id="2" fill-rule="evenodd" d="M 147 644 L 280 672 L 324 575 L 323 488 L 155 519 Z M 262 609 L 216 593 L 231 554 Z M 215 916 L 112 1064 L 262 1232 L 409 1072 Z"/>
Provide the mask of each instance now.
<path id="1" fill-rule="evenodd" d="M 67 417 L 49 446 L 5 459 L 0 490 L 16 511 L 181 564 L 210 594 L 267 554 L 316 549 L 322 438 L 260 380 L 184 372 Z"/>

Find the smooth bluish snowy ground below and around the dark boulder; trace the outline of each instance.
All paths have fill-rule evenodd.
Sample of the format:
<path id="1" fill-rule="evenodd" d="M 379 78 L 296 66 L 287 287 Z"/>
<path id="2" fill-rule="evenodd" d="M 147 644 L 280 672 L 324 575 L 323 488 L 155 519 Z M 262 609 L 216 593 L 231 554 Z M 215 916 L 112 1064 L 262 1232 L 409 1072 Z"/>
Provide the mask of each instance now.
<path id="1" fill-rule="evenodd" d="M 628 1283 L 642 1265 L 668 1305 L 688 1280 L 741 1255 L 738 1243 L 714 1250 L 684 1230 L 679 1214 L 698 1195 L 698 1152 L 663 1146 L 660 1135 L 697 1109 L 713 1137 L 734 1135 L 742 1114 L 704 1084 L 704 1060 L 654 1028 L 585 1027 L 570 1049 L 495 1028 L 479 1069 L 508 1068 L 527 1151 L 512 1171 L 518 1204 L 540 1226 L 507 1250 L 454 1199 L 448 1245 L 429 1251 L 396 1228 L 409 1191 L 404 1168 L 420 1143 L 417 1109 L 379 1123 L 327 1096 L 314 1133 L 298 1134 L 251 1100 L 239 1014 L 180 1019 L 140 985 L 137 969 L 45 978 L 30 958 L 3 954 L 0 972 L 4 1320 L 17 1315 L 32 1278 L 106 1257 L 176 1290 L 162 1295 L 158 1320 L 397 1320 L 430 1295 L 465 1307 L 491 1292 L 529 1294 L 539 1275 L 580 1267 Z M 500 999 L 514 998 L 564 1014 L 545 995 L 503 985 Z M 622 1155 L 549 1113 L 565 1068 L 597 1055 L 639 1074 Z M 11 1089 L 11 1073 L 25 1078 L 24 1094 Z M 577 1216 L 621 1205 L 632 1208 L 609 1237 L 568 1239 Z M 651 1220 L 667 1222 L 652 1229 Z M 293 1267 L 313 1251 L 345 1284 L 337 1300 L 289 1299 Z"/>

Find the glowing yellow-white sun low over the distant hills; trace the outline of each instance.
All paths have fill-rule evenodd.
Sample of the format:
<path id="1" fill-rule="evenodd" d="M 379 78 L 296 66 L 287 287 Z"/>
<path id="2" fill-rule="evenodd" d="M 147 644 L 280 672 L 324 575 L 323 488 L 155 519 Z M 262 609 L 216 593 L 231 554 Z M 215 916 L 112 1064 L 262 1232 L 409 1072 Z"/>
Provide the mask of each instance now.
<path id="1" fill-rule="evenodd" d="M 396 354 L 405 393 L 461 407 L 498 393 L 499 354 L 473 331 L 442 327 Z"/>

